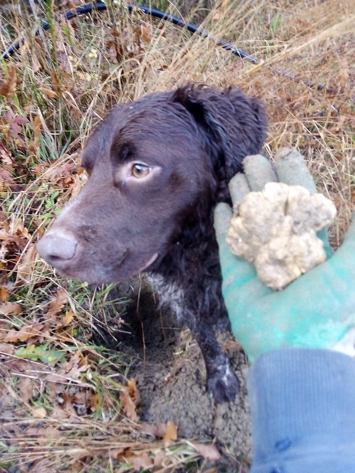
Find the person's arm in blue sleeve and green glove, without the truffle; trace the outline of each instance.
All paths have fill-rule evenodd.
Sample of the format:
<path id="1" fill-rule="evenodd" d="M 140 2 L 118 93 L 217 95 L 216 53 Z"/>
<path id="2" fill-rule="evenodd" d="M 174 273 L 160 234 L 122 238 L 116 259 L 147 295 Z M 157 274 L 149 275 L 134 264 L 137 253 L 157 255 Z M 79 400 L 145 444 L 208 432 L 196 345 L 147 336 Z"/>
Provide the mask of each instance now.
<path id="1" fill-rule="evenodd" d="M 282 156 L 276 169 L 278 177 L 266 159 L 247 158 L 245 175 L 230 184 L 233 202 L 278 178 L 315 190 L 300 155 Z M 273 292 L 229 252 L 230 216 L 220 204 L 215 226 L 232 331 L 256 359 L 248 375 L 252 471 L 355 471 L 355 363 L 343 354 L 355 353 L 355 223 L 334 256 L 323 231 L 330 258 Z"/>

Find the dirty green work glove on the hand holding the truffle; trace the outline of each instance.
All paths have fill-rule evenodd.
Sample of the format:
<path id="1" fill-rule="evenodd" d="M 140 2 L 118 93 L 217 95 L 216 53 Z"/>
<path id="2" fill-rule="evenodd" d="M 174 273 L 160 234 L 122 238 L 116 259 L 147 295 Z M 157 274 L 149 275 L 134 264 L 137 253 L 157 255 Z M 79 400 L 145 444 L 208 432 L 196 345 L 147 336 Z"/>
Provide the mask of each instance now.
<path id="1" fill-rule="evenodd" d="M 266 158 L 246 158 L 245 174 L 237 174 L 230 181 L 233 203 L 277 180 L 315 192 L 312 177 L 297 152 L 279 156 L 275 168 L 278 178 Z M 329 348 L 355 356 L 355 219 L 334 256 L 327 232 L 319 232 L 328 260 L 274 292 L 257 278 L 253 265 L 234 256 L 226 246 L 231 216 L 229 205 L 217 206 L 215 230 L 222 294 L 233 335 L 248 358 L 253 361 L 263 352 L 282 347 Z"/>

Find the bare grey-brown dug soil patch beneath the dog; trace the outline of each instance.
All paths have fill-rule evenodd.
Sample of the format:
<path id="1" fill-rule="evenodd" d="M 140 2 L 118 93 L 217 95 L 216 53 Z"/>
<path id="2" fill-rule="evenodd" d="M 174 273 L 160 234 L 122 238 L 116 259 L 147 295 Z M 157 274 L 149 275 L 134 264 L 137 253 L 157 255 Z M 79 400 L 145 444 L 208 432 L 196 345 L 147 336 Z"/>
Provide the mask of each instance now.
<path id="1" fill-rule="evenodd" d="M 134 300 L 127 307 L 124 319 L 126 333 L 120 335 L 116 349 L 133 359 L 128 377 L 136 380 L 141 395 L 141 420 L 172 420 L 179 438 L 215 439 L 233 456 L 250 458 L 247 363 L 232 335 L 220 332 L 218 338 L 240 389 L 234 403 L 216 405 L 206 392 L 204 361 L 197 343 L 188 330 L 177 326 L 173 314 L 158 309 L 150 290 L 141 292 L 139 302 Z"/>

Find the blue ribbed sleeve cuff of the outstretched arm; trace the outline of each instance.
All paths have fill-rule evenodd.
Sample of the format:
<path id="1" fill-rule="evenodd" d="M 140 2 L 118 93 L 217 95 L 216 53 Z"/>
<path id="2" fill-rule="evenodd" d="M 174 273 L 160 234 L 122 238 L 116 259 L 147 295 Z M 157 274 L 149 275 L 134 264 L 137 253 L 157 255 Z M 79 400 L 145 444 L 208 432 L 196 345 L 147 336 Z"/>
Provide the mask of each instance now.
<path id="1" fill-rule="evenodd" d="M 270 351 L 247 384 L 251 473 L 355 472 L 355 360 L 331 350 Z"/>

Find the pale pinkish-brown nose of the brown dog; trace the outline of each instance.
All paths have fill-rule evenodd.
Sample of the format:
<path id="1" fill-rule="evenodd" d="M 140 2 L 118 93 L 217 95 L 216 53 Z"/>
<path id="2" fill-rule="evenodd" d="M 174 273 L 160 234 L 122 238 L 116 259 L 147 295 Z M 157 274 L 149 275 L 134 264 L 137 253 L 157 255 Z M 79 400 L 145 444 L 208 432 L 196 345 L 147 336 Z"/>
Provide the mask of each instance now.
<path id="1" fill-rule="evenodd" d="M 60 268 L 62 264 L 71 260 L 77 248 L 74 237 L 65 235 L 45 235 L 37 243 L 37 251 L 50 265 Z"/>

